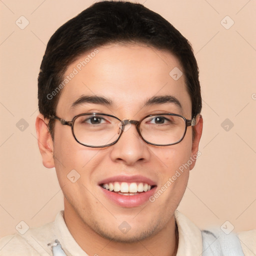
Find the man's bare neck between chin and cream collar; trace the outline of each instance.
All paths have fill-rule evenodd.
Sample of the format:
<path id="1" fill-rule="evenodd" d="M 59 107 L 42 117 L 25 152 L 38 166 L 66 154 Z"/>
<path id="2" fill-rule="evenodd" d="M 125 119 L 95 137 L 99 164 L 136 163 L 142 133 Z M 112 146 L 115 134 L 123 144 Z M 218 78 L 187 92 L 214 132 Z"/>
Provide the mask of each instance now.
<path id="1" fill-rule="evenodd" d="M 88 255 L 175 256 L 178 231 L 174 215 L 158 233 L 136 242 L 117 242 L 102 237 L 87 225 L 68 202 L 64 202 L 64 220 L 75 241 Z"/>

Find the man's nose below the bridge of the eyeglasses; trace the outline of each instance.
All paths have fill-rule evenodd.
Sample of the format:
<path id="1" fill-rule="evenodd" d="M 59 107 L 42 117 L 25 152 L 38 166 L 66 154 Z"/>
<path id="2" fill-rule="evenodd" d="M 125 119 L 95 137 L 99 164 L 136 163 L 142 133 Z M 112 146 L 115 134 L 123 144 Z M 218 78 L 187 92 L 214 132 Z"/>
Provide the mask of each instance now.
<path id="1" fill-rule="evenodd" d="M 110 158 L 114 162 L 133 165 L 136 162 L 146 162 L 150 157 L 148 144 L 141 139 L 135 124 L 126 123 L 119 140 L 111 146 Z"/>

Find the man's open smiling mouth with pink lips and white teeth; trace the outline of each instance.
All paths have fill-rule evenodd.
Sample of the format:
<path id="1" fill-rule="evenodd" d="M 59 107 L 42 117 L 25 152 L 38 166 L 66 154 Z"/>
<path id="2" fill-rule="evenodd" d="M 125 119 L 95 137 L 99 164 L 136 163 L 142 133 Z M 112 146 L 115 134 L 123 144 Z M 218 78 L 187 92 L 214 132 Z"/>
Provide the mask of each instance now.
<path id="1" fill-rule="evenodd" d="M 98 183 L 107 199 L 122 207 L 144 204 L 155 193 L 156 183 L 143 176 L 115 176 Z"/>

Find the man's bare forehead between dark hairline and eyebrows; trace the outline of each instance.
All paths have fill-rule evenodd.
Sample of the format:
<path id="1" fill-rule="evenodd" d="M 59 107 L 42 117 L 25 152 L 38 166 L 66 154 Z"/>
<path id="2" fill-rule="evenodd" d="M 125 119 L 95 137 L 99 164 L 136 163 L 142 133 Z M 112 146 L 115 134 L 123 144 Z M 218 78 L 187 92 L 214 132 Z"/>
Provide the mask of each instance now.
<path id="1" fill-rule="evenodd" d="M 137 44 L 97 47 L 68 66 L 56 112 L 68 113 L 81 95 L 104 96 L 129 112 L 152 96 L 172 95 L 181 102 L 183 112 L 190 113 L 191 102 L 181 74 L 178 59 L 165 50 Z"/>

